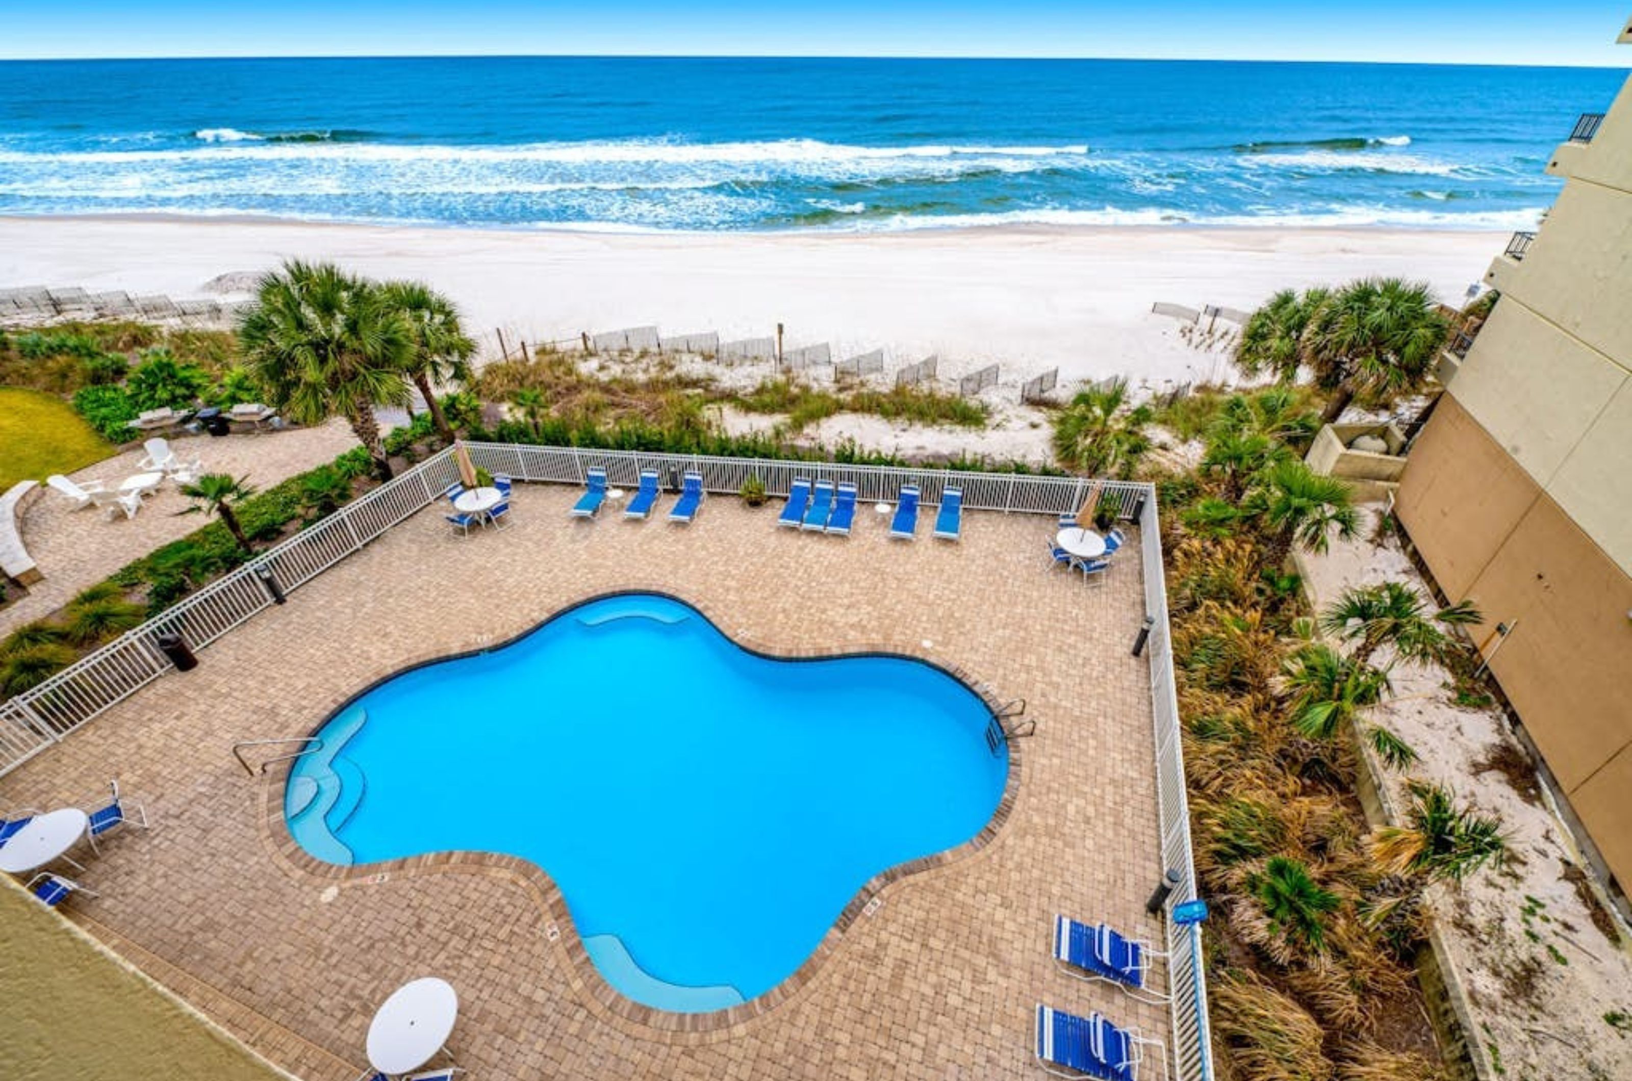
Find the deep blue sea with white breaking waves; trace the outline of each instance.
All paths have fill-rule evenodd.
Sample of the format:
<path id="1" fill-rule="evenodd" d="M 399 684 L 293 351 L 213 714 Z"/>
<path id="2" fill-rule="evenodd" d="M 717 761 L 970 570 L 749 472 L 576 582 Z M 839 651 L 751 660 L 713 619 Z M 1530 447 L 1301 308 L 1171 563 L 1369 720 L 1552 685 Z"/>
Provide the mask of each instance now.
<path id="1" fill-rule="evenodd" d="M 0 62 L 0 214 L 579 229 L 1524 227 L 1625 72 L 1188 60 Z"/>

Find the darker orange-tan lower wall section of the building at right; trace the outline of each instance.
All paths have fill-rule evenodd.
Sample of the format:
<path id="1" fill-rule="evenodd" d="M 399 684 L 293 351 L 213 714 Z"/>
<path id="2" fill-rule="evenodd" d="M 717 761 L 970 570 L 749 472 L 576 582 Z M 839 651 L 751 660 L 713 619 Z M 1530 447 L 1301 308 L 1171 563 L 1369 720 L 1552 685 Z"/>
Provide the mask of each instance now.
<path id="1" fill-rule="evenodd" d="M 1622 887 L 1632 887 L 1632 576 L 1457 403 L 1412 449 L 1395 509 Z M 1492 632 L 1506 624 L 1503 640 Z"/>

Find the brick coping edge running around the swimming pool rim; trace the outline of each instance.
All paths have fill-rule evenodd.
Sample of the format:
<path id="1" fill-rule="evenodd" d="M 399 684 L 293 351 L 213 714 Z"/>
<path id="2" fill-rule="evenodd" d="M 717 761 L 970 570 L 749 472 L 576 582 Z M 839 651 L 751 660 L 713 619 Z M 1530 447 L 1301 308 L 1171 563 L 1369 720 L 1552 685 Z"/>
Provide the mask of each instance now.
<path id="1" fill-rule="evenodd" d="M 782 661 L 891 656 L 927 665 L 956 679 L 971 694 L 981 699 L 994 718 L 1000 715 L 1005 704 L 987 681 L 960 665 L 950 665 L 942 658 L 934 658 L 927 655 L 927 652 L 904 652 L 901 645 L 809 650 L 774 648 L 769 643 L 757 642 L 734 632 L 730 622 L 723 622 L 716 612 L 694 599 L 679 596 L 671 588 L 661 585 L 630 585 L 620 589 L 588 594 L 570 604 L 563 604 L 530 627 L 503 640 L 483 642 L 468 650 L 454 653 L 428 652 L 419 658 L 408 660 L 408 663 L 397 663 L 379 678 L 369 681 L 364 687 L 348 694 L 343 701 L 323 710 L 323 720 L 308 732 L 297 733 L 295 738 L 302 735 L 315 735 L 320 728 L 323 728 L 323 725 L 330 723 L 353 702 L 397 676 L 442 661 L 454 661 L 506 648 L 578 607 L 630 594 L 654 594 L 685 604 L 700 612 L 703 619 L 713 624 L 713 627 L 728 637 L 734 645 L 756 656 Z M 1002 725 L 1000 720 L 999 725 Z M 811 954 L 777 986 L 738 1006 L 698 1014 L 681 1014 L 658 1009 L 654 1006 L 645 1006 L 632 998 L 627 998 L 607 983 L 596 968 L 594 962 L 589 959 L 589 952 L 583 944 L 583 937 L 578 934 L 578 928 L 573 924 L 566 908 L 566 898 L 563 896 L 560 887 L 548 875 L 548 872 L 530 861 L 517 856 L 501 856 L 496 852 L 457 851 L 341 867 L 310 856 L 294 839 L 284 821 L 284 790 L 287 787 L 289 772 L 294 767 L 292 761 L 279 763 L 274 769 L 263 774 L 263 779 L 271 781 L 271 784 L 258 785 L 258 795 L 261 800 L 259 833 L 261 841 L 273 856 L 274 862 L 281 865 L 286 874 L 294 879 L 307 880 L 313 885 L 344 888 L 353 885 L 379 885 L 392 877 L 401 875 L 419 877 L 436 874 L 473 874 L 504 879 L 521 885 L 532 896 L 543 918 L 543 937 L 550 942 L 557 957 L 563 960 L 563 970 L 568 973 L 568 985 L 592 1014 L 636 1037 L 658 1039 L 672 1043 L 713 1042 L 718 1039 L 728 1039 L 730 1035 L 739 1032 L 743 1025 L 796 998 L 806 986 L 814 983 L 826 968 L 826 960 L 844 942 L 845 932 L 855 926 L 857 919 L 862 916 L 871 916 L 876 911 L 878 905 L 883 903 L 881 895 L 889 885 L 968 859 L 997 839 L 1004 825 L 1009 821 L 1018 797 L 1020 766 L 1023 759 L 1023 740 L 1010 738 L 1005 743 L 1009 748 L 1009 769 L 1004 781 L 1004 792 L 999 797 L 997 807 L 992 810 L 991 816 L 973 838 L 955 847 L 896 864 L 873 875 L 839 911 L 837 919 L 831 928 L 827 928 L 821 942 L 816 944 Z"/>

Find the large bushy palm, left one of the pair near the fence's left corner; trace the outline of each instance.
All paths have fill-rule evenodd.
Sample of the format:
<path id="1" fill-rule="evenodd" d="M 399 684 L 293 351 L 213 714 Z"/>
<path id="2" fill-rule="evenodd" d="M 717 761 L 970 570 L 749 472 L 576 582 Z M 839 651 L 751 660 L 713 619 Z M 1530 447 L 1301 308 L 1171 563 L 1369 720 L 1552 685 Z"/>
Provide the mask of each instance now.
<path id="1" fill-rule="evenodd" d="M 238 341 L 271 405 L 302 425 L 344 416 L 380 480 L 392 478 L 374 407 L 408 403 L 415 333 L 377 286 L 333 263 L 284 263 L 261 278 Z"/>

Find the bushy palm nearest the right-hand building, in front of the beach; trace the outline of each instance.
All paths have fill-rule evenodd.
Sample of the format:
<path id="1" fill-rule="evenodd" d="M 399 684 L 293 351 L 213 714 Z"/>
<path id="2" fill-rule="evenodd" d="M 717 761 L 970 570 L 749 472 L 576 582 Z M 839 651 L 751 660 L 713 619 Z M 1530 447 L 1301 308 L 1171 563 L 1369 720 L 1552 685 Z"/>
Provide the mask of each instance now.
<path id="1" fill-rule="evenodd" d="M 1363 397 L 1382 402 L 1428 377 L 1451 333 L 1426 282 L 1366 278 L 1333 292 L 1309 315 L 1299 359 L 1330 394 L 1327 425 Z"/>

